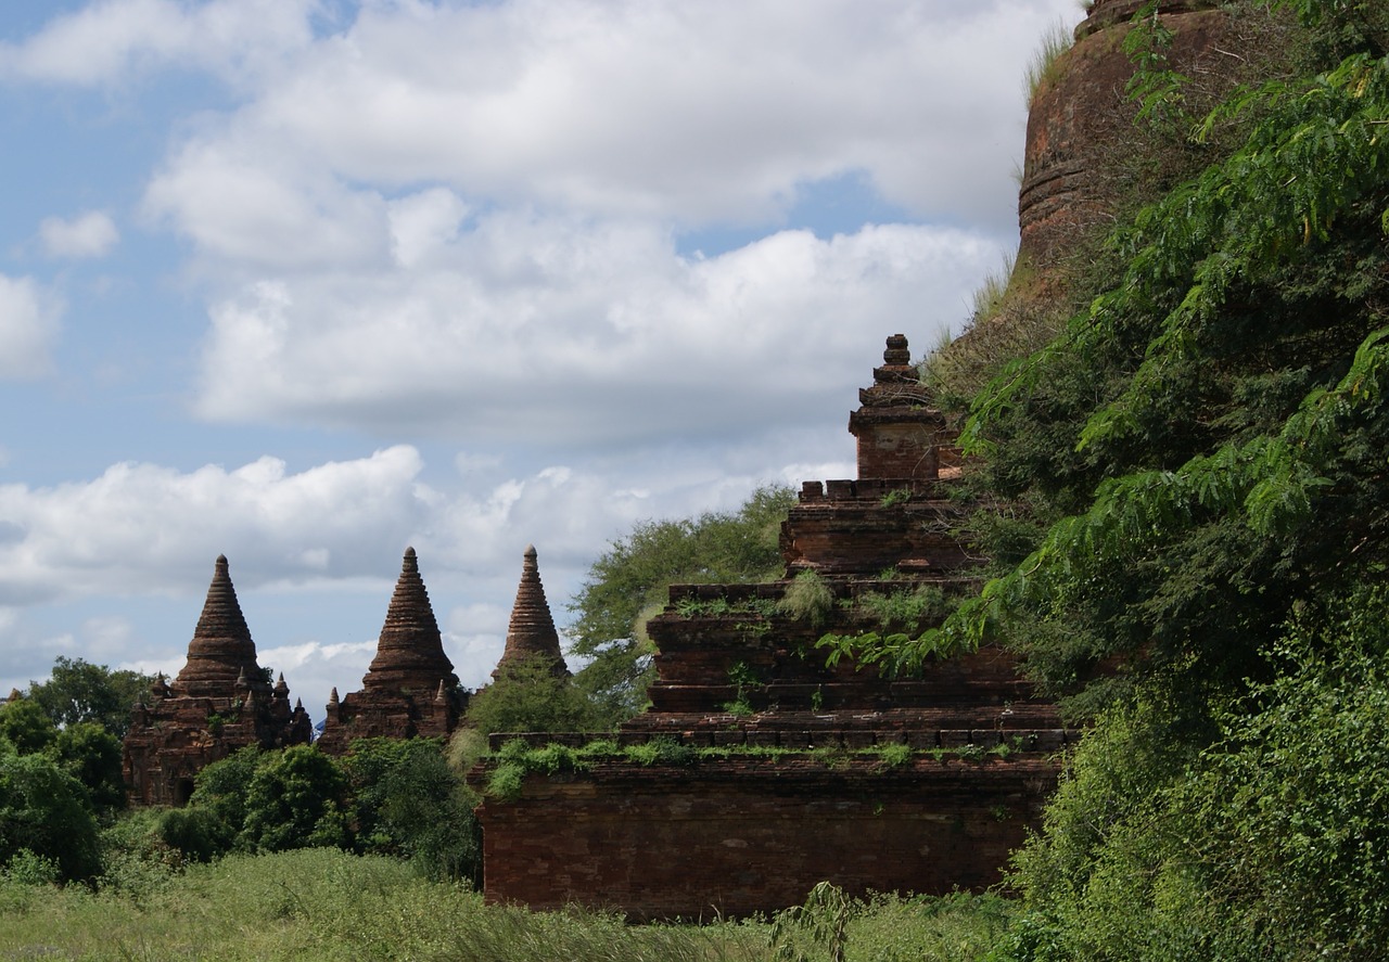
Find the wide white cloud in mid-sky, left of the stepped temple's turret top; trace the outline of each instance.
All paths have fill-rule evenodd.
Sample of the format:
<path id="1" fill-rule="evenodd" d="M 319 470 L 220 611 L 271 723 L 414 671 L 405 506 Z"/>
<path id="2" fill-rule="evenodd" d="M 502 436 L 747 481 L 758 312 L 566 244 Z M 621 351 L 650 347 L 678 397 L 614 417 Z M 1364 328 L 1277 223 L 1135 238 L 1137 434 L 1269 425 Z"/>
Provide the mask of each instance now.
<path id="1" fill-rule="evenodd" d="M 263 282 L 215 304 L 200 414 L 556 446 L 804 423 L 885 335 L 928 347 L 999 255 L 900 225 L 693 261 L 640 225 L 497 214 L 439 236 L 432 269 Z M 932 304 L 960 307 L 922 317 Z"/>

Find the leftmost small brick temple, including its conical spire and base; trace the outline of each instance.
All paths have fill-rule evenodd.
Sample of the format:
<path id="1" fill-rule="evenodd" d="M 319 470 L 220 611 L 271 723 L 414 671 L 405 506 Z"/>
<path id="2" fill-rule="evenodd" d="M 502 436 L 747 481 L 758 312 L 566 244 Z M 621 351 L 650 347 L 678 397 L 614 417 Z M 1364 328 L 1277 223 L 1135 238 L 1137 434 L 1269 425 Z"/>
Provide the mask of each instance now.
<path id="1" fill-rule="evenodd" d="M 158 676 L 131 711 L 124 751 L 131 800 L 182 805 L 204 766 L 247 745 L 307 744 L 311 734 L 303 704 L 289 704 L 285 676 L 272 686 L 257 664 L 226 557 L 218 557 L 188 662 L 172 683 Z"/>

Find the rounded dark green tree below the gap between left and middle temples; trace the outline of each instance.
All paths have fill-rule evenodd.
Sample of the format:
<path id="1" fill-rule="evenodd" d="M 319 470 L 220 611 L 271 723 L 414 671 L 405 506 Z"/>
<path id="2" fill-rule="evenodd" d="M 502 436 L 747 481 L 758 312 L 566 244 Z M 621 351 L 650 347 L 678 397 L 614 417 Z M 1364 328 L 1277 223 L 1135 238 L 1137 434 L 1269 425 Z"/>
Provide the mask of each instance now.
<path id="1" fill-rule="evenodd" d="M 239 843 L 250 851 L 278 852 L 351 844 L 347 776 L 313 745 L 271 754 L 246 787 L 246 820 Z"/>

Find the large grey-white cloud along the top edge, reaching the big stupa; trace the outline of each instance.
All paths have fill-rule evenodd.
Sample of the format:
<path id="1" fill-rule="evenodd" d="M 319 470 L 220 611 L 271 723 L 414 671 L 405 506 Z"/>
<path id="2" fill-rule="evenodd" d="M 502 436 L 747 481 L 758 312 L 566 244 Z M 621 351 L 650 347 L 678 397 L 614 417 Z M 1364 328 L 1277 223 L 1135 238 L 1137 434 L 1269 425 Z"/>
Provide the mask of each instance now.
<path id="1" fill-rule="evenodd" d="M 368 6 L 192 135 L 153 204 L 200 243 L 219 235 L 206 223 L 218 215 L 260 211 L 274 235 L 272 204 L 203 205 L 233 171 L 238 192 L 263 200 L 275 185 L 297 194 L 336 179 L 389 194 L 433 182 L 464 199 L 750 223 L 783 214 L 806 183 L 861 171 L 918 215 L 1006 230 L 1013 203 L 996 185 L 1024 104 L 1020 71 L 1000 65 L 1026 62 L 1070 7 Z"/>

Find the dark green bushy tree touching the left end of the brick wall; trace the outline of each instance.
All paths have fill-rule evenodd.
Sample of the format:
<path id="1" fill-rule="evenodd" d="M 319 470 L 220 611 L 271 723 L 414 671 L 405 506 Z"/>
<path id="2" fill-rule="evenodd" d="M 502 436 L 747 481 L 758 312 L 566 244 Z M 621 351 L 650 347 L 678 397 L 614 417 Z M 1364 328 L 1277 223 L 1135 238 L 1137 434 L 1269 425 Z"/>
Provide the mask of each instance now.
<path id="1" fill-rule="evenodd" d="M 361 739 L 343 765 L 363 851 L 406 856 L 432 879 L 479 879 L 476 798 L 438 739 Z"/>

